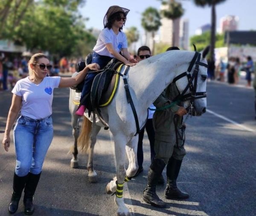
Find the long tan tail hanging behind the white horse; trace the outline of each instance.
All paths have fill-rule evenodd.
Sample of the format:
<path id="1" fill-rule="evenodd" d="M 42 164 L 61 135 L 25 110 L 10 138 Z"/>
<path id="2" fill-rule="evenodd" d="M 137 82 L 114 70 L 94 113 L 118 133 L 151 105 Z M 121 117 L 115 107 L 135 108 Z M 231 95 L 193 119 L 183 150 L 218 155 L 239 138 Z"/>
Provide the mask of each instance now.
<path id="1" fill-rule="evenodd" d="M 85 151 L 86 153 L 88 152 L 89 146 L 90 146 L 91 131 L 92 131 L 92 122 L 84 116 L 81 132 L 77 141 L 78 141 L 78 146 L 81 148 L 82 151 Z"/>

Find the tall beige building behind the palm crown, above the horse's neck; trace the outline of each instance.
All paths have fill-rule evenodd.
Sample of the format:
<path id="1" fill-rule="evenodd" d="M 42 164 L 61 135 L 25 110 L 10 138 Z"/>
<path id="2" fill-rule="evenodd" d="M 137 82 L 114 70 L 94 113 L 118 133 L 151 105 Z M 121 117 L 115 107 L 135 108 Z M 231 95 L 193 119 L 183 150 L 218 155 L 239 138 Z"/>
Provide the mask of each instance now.
<path id="1" fill-rule="evenodd" d="M 161 10 L 166 9 L 167 5 L 162 5 Z M 170 20 L 166 17 L 161 19 L 160 41 L 170 46 L 179 46 L 180 39 L 180 19 Z M 174 37 L 174 44 L 173 38 Z"/>

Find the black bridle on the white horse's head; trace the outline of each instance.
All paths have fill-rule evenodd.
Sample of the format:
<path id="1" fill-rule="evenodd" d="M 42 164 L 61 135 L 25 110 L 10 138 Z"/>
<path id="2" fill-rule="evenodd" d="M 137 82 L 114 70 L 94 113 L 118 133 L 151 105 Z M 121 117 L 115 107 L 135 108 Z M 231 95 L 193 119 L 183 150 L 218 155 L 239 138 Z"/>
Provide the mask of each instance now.
<path id="1" fill-rule="evenodd" d="M 189 101 L 189 112 L 192 112 L 191 109 L 193 108 L 195 99 L 206 98 L 206 92 L 196 92 L 199 66 L 201 65 L 208 68 L 207 64 L 200 62 L 200 58 L 201 58 L 201 53 L 196 51 L 194 57 L 192 58 L 189 64 L 187 71 L 178 75 L 172 81 L 173 83 L 176 83 L 176 81 L 179 80 L 180 78 L 183 78 L 185 76 L 188 78 L 188 84 L 186 85 L 185 89 L 173 101 Z M 191 75 L 191 70 L 194 65 L 195 65 L 195 69 L 193 74 Z M 194 84 L 193 84 L 193 81 L 194 81 Z M 185 95 L 188 89 L 190 90 L 190 92 Z"/>

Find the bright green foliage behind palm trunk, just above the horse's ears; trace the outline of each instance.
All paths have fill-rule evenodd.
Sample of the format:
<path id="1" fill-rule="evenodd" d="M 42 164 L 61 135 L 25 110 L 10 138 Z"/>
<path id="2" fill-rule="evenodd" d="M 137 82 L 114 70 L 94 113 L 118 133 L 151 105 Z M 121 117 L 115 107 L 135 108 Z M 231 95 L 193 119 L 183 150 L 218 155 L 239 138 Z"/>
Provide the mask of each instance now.
<path id="1" fill-rule="evenodd" d="M 190 46 L 193 50 L 193 44 L 196 45 L 197 50 L 200 52 L 211 42 L 211 32 L 204 32 L 202 35 L 194 35 L 190 37 Z M 215 47 L 224 47 L 224 34 L 217 34 L 215 40 Z"/>

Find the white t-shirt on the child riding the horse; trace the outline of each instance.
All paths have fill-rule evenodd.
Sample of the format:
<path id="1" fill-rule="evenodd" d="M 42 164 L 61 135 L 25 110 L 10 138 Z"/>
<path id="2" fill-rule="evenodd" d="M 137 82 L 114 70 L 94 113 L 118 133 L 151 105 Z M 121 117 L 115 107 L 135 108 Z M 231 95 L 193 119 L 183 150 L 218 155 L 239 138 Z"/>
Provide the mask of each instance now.
<path id="1" fill-rule="evenodd" d="M 118 32 L 116 35 L 112 29 L 105 28 L 100 32 L 99 38 L 96 45 L 93 48 L 93 51 L 99 55 L 106 55 L 111 58 L 114 56 L 108 52 L 106 43 L 112 43 L 116 52 L 120 52 L 122 48 L 127 48 L 127 39 L 124 32 Z"/>

